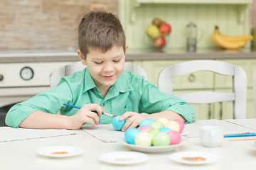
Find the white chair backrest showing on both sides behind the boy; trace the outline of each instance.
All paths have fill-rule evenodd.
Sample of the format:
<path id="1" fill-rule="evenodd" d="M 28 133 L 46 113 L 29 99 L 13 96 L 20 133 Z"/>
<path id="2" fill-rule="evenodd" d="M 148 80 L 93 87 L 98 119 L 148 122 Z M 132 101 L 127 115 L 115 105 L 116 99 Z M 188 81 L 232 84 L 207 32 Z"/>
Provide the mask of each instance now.
<path id="1" fill-rule="evenodd" d="M 60 67 L 58 69 L 55 69 L 55 71 L 53 71 L 53 73 L 50 76 L 50 88 L 53 89 L 55 86 L 57 86 L 61 77 L 69 76 L 74 72 L 82 71 L 82 69 L 85 69 L 85 67 L 86 66 L 83 65 L 82 62 L 75 62 L 72 64 L 65 65 L 63 67 Z M 140 74 L 144 76 L 145 79 L 147 80 L 146 71 L 142 69 L 142 67 L 139 67 L 134 64 L 129 64 L 126 62 L 124 64 L 124 69 Z"/>

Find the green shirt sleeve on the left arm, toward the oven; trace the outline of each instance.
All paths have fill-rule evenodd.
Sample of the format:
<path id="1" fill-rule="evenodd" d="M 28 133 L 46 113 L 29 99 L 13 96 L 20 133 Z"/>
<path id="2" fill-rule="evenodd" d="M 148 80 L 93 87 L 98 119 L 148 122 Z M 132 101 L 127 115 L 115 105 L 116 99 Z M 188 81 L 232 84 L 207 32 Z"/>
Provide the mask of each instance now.
<path id="1" fill-rule="evenodd" d="M 34 111 L 57 114 L 63 103 L 73 99 L 70 86 L 65 79 L 54 89 L 50 89 L 41 94 L 33 96 L 28 101 L 17 103 L 12 106 L 6 114 L 6 125 L 19 128 L 18 125 Z"/>

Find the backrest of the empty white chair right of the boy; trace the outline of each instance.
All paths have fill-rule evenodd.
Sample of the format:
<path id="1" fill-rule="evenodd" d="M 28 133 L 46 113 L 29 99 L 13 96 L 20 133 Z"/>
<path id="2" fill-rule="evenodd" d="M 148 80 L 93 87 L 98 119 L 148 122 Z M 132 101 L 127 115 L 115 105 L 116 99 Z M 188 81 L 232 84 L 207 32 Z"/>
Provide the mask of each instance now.
<path id="1" fill-rule="evenodd" d="M 233 92 L 198 91 L 188 94 L 173 94 L 173 77 L 197 71 L 209 71 L 233 77 Z M 188 103 L 233 101 L 233 118 L 246 118 L 247 76 L 242 68 L 234 64 L 215 60 L 193 60 L 174 64 L 160 72 L 158 87 L 161 91 L 177 96 Z"/>

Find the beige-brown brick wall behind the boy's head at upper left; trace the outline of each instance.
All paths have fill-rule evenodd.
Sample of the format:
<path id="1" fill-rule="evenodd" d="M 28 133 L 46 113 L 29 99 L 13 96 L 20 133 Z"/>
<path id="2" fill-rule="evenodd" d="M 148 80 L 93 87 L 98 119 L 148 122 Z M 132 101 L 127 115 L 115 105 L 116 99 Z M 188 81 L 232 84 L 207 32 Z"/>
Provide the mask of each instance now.
<path id="1" fill-rule="evenodd" d="M 117 14 L 117 0 L 0 0 L 0 50 L 77 48 L 91 8 Z"/>

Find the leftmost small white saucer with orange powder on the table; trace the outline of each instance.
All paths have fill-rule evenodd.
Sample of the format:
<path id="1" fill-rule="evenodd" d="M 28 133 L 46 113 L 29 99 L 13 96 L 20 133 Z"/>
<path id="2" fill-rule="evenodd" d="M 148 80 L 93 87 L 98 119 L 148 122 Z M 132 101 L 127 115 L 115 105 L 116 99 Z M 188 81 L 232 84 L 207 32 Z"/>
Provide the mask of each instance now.
<path id="1" fill-rule="evenodd" d="M 78 154 L 82 154 L 83 150 L 80 147 L 72 146 L 52 146 L 42 147 L 37 149 L 37 154 L 45 157 L 72 157 Z"/>

